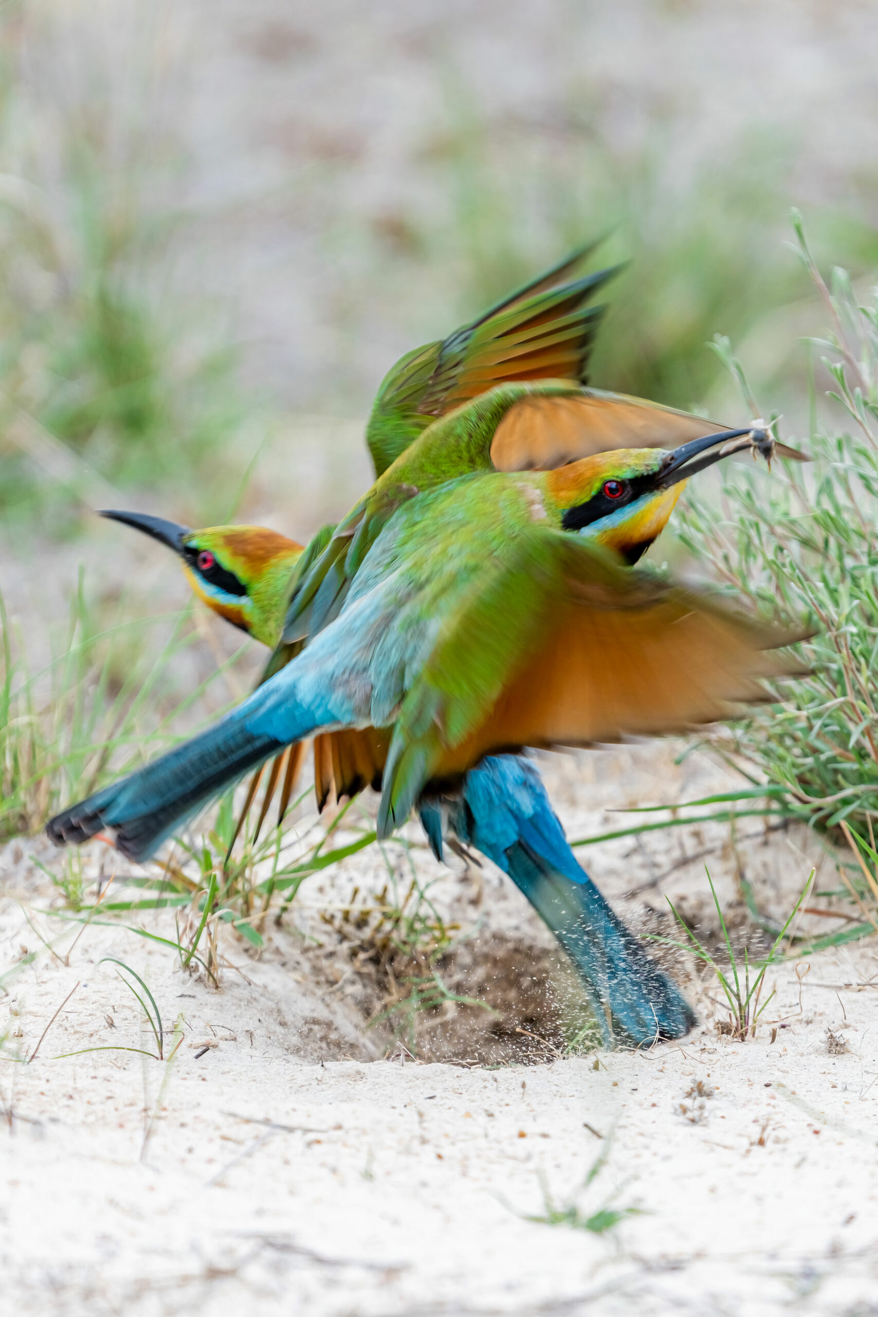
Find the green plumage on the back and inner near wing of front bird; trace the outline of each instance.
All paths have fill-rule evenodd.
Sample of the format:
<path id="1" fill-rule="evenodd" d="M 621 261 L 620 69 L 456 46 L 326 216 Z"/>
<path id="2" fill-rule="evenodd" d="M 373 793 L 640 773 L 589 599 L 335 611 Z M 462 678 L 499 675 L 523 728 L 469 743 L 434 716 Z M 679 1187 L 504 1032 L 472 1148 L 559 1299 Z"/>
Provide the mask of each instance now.
<path id="1" fill-rule="evenodd" d="M 408 817 L 444 748 L 473 732 L 545 644 L 571 572 L 619 598 L 632 589 L 613 553 L 561 529 L 544 485 L 532 473 L 520 482 L 499 473 L 458 479 L 415 499 L 388 527 L 387 553 L 417 593 L 408 626 L 429 624 L 432 644 L 394 724 L 382 831 Z M 545 510 L 536 523 L 534 497 Z"/>

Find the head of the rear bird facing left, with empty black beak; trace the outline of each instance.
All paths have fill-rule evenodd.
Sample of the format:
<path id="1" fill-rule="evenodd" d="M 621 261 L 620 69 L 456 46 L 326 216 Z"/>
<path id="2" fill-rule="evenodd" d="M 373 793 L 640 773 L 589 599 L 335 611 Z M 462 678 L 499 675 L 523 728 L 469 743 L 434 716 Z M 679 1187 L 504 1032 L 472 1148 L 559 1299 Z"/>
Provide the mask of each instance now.
<path id="1" fill-rule="evenodd" d="M 208 608 L 254 640 L 274 647 L 290 597 L 290 578 L 301 545 L 262 525 L 212 525 L 191 531 L 142 512 L 104 511 L 167 545 Z"/>

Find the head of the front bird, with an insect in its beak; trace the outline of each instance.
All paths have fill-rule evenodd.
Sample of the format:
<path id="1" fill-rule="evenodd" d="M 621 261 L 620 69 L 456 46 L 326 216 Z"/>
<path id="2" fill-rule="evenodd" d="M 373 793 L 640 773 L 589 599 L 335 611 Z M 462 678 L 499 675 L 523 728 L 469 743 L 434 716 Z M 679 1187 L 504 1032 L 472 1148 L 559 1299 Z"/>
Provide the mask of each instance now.
<path id="1" fill-rule="evenodd" d="M 763 429 L 707 435 L 673 450 L 621 448 L 546 471 L 545 487 L 565 531 L 587 536 L 634 564 L 661 535 L 690 475 L 741 448 L 770 456 Z"/>

